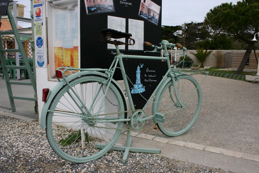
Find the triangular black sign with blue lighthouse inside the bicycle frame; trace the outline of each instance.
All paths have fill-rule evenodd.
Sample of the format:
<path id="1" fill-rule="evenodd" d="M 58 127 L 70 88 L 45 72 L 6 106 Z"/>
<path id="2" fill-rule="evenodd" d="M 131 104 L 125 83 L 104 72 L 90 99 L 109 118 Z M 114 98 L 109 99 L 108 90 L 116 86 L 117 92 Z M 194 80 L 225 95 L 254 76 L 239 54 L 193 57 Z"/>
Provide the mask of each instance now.
<path id="1" fill-rule="evenodd" d="M 167 62 L 124 59 L 123 64 L 127 64 L 125 72 L 131 81 L 128 81 L 131 93 L 127 94 L 131 94 L 135 109 L 142 109 L 166 74 Z"/>

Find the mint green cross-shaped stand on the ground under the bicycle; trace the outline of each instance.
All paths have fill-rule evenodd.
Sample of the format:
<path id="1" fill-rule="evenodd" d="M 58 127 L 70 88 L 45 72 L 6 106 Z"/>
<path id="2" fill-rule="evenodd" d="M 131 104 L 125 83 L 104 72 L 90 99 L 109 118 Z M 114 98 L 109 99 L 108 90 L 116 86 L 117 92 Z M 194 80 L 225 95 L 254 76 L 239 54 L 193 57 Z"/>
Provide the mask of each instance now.
<path id="1" fill-rule="evenodd" d="M 130 123 L 128 123 L 128 129 L 130 129 Z M 152 148 L 139 148 L 139 147 L 131 147 L 131 141 L 132 138 L 130 137 L 130 130 L 127 131 L 127 144 L 126 146 L 113 146 L 111 150 L 119 150 L 119 151 L 125 151 L 123 158 L 122 158 L 122 163 L 126 163 L 128 154 L 129 152 L 139 152 L 139 153 L 152 153 L 152 154 L 160 154 L 161 150 L 160 149 L 152 149 Z M 103 148 L 105 145 L 103 144 L 98 144 L 96 145 L 97 148 Z"/>

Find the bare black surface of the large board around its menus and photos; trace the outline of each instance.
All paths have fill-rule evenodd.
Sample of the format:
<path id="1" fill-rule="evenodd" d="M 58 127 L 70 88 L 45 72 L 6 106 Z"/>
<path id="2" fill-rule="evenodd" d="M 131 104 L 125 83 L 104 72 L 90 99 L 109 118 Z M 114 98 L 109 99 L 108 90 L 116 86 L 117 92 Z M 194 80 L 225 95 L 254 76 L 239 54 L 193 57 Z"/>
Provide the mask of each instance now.
<path id="1" fill-rule="evenodd" d="M 162 1 L 161 0 L 149 0 L 160 8 L 160 16 L 157 23 L 150 22 L 149 20 L 140 16 L 140 5 L 143 0 L 81 0 L 80 1 L 80 67 L 81 68 L 109 68 L 111 62 L 114 59 L 116 53 L 115 50 L 107 49 L 107 44 L 100 41 L 100 32 L 107 28 L 107 16 L 114 16 L 126 19 L 126 31 L 128 32 L 128 19 L 141 20 L 144 22 L 144 41 L 148 41 L 154 45 L 161 43 L 161 12 L 162 12 Z M 146 3 L 148 3 L 147 1 Z M 85 6 L 86 3 L 101 2 L 113 3 L 114 9 L 111 12 L 94 12 L 90 14 L 87 12 Z M 95 7 L 93 6 L 92 9 Z M 115 47 L 114 47 L 115 48 Z M 121 52 L 123 54 L 132 55 L 146 55 L 146 56 L 160 56 L 160 53 L 144 53 L 144 51 L 151 51 L 150 47 L 145 47 L 144 50 L 134 51 L 128 50 L 128 46 L 125 46 L 125 50 Z M 120 71 L 117 70 L 116 74 Z M 116 80 L 120 80 L 121 75 L 115 76 Z"/>

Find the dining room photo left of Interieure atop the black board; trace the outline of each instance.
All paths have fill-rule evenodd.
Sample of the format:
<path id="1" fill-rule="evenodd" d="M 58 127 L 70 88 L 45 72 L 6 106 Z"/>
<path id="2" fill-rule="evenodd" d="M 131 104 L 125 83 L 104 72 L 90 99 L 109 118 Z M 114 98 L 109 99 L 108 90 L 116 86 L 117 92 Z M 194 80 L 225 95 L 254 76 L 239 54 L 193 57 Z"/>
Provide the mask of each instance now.
<path id="1" fill-rule="evenodd" d="M 114 0 L 84 0 L 87 14 L 114 12 Z"/>

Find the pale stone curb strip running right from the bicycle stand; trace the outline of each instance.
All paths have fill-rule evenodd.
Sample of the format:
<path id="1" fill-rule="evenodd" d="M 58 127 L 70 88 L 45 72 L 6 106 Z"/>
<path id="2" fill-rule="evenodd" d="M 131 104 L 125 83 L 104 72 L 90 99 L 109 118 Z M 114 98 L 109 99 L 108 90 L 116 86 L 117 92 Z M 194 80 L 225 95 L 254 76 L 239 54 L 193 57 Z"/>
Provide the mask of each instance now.
<path id="1" fill-rule="evenodd" d="M 127 131 L 123 132 L 123 134 L 127 135 Z M 152 141 L 163 142 L 163 143 L 168 143 L 168 144 L 172 144 L 172 145 L 202 150 L 202 151 L 210 151 L 212 153 L 223 154 L 226 156 L 233 156 L 233 157 L 238 157 L 238 158 L 244 158 L 247 160 L 253 160 L 253 161 L 259 162 L 259 156 L 253 155 L 253 154 L 241 153 L 238 151 L 227 150 L 227 149 L 218 148 L 218 147 L 204 146 L 204 145 L 196 144 L 196 143 L 192 143 L 192 142 L 177 141 L 177 140 L 167 139 L 167 138 L 163 138 L 163 137 L 147 135 L 144 133 L 138 133 L 138 132 L 131 132 L 130 134 L 131 134 L 131 136 L 134 136 L 134 137 L 140 137 L 140 138 L 148 139 L 148 140 L 152 140 Z"/>

